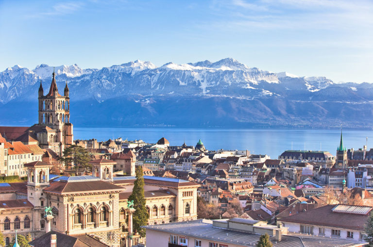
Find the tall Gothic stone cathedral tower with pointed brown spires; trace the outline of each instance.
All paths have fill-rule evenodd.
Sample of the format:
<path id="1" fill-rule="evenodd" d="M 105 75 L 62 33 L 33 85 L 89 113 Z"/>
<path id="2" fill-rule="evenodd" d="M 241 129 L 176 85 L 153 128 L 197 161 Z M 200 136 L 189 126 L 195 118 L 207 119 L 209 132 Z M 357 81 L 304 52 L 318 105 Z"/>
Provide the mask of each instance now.
<path id="1" fill-rule="evenodd" d="M 45 128 L 45 131 L 38 132 L 37 139 L 41 148 L 51 148 L 57 154 L 62 155 L 65 147 L 72 145 L 73 141 L 69 90 L 66 82 L 64 96 L 60 95 L 55 81 L 54 69 L 52 76 L 51 87 L 45 96 L 40 81 L 38 126 Z"/>

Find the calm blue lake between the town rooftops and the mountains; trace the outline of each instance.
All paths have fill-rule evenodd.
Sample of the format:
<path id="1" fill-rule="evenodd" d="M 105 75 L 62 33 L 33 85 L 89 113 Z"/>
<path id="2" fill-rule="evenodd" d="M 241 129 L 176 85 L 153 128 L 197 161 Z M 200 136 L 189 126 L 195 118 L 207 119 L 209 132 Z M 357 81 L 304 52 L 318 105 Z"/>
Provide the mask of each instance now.
<path id="1" fill-rule="evenodd" d="M 96 138 L 98 141 L 122 137 L 128 140 L 143 140 L 155 143 L 165 137 L 170 145 L 195 146 L 201 138 L 208 150 L 248 149 L 254 154 L 268 154 L 272 159 L 287 149 L 324 150 L 335 155 L 339 145 L 338 130 L 279 130 L 279 129 L 131 129 L 131 128 L 74 128 L 74 139 Z M 368 148 L 373 142 L 373 131 L 343 131 L 343 144 L 346 148 Z"/>

